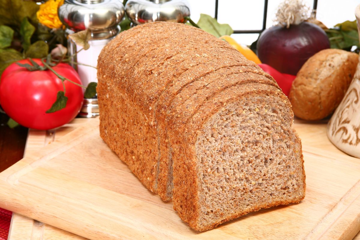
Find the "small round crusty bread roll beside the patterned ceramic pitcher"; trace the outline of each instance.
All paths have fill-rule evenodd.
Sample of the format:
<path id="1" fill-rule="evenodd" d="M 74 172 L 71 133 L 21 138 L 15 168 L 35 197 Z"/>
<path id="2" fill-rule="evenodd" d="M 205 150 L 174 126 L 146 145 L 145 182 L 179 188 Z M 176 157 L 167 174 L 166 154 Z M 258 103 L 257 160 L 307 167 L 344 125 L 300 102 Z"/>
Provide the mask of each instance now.
<path id="1" fill-rule="evenodd" d="M 289 100 L 295 116 L 323 119 L 337 108 L 348 89 L 359 55 L 340 49 L 324 49 L 309 58 L 291 86 Z"/>

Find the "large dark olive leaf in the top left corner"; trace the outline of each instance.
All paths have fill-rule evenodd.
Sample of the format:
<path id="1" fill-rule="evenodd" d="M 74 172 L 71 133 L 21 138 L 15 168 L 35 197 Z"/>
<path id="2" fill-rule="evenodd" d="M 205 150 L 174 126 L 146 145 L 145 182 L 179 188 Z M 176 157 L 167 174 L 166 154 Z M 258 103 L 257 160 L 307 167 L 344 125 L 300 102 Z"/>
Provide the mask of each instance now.
<path id="1" fill-rule="evenodd" d="M 39 5 L 28 0 L 0 0 L 0 25 L 20 27 L 21 21 L 28 17 L 37 22 L 36 12 Z"/>

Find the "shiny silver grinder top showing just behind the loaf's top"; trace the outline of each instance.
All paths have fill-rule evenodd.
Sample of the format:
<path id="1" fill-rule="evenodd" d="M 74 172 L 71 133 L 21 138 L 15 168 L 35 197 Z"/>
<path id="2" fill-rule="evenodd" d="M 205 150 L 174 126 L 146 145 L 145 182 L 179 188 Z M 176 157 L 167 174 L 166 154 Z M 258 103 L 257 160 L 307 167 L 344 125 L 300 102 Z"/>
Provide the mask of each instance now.
<path id="1" fill-rule="evenodd" d="M 125 10 L 134 25 L 155 21 L 184 23 L 185 17 L 190 16 L 186 0 L 129 0 Z"/>

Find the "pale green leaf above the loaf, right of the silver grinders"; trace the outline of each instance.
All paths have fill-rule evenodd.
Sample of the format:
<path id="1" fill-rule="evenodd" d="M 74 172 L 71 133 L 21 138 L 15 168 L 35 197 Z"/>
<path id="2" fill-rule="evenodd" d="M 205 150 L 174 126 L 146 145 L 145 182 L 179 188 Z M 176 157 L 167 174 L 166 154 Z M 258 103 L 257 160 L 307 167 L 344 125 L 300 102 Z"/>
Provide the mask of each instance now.
<path id="1" fill-rule="evenodd" d="M 207 14 L 200 14 L 200 19 L 197 24 L 202 30 L 211 33 L 215 37 L 231 35 L 234 33 L 229 24 L 220 24 L 215 18 L 212 18 Z"/>

